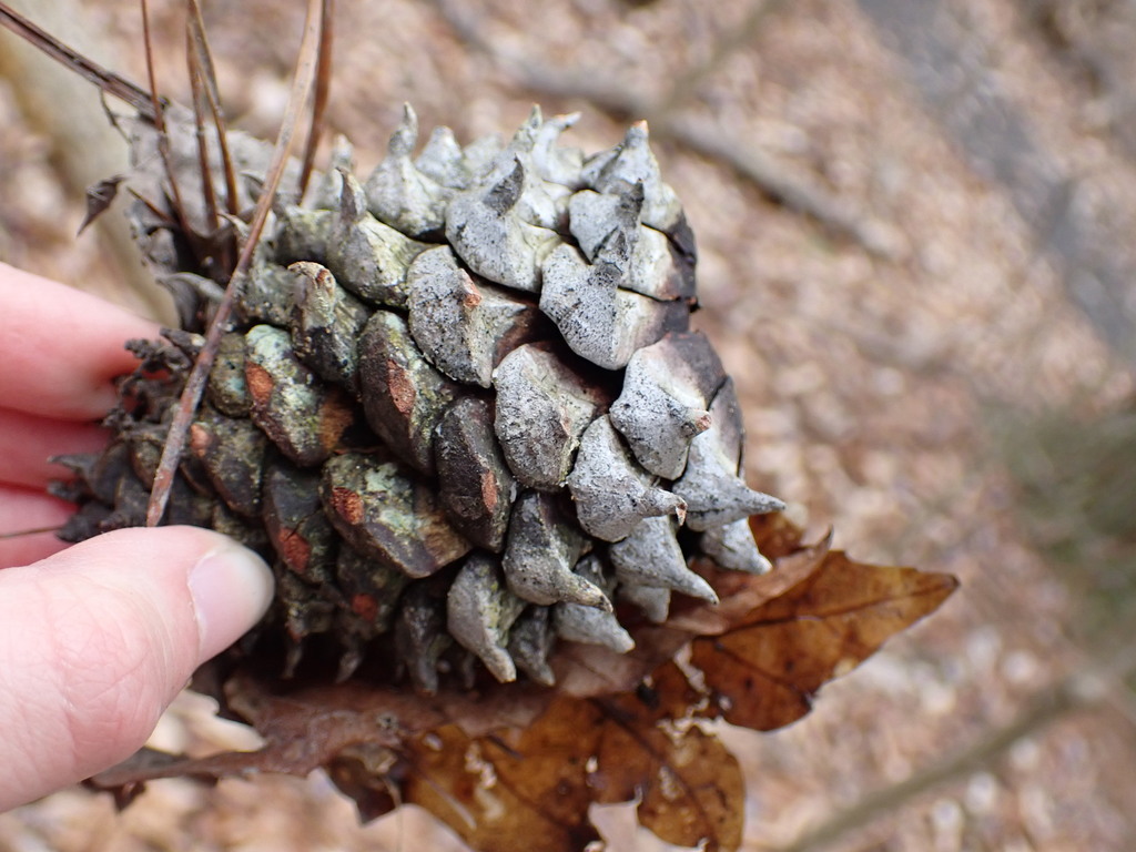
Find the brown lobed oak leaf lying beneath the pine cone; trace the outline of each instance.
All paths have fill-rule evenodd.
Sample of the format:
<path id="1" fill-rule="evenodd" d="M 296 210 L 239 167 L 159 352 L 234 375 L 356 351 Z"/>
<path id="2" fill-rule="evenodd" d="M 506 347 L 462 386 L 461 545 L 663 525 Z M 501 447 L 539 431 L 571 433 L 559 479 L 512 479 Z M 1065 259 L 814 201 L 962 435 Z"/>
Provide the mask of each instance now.
<path id="1" fill-rule="evenodd" d="M 554 690 L 483 683 L 426 696 L 360 679 L 301 686 L 206 669 L 198 683 L 256 727 L 264 747 L 192 760 L 144 752 L 92 783 L 126 802 L 152 778 L 324 768 L 365 819 L 415 803 L 478 851 L 528 852 L 537 837 L 542 850 L 583 850 L 599 840 L 590 807 L 628 801 L 669 843 L 735 850 L 742 776 L 705 722 L 770 730 L 795 721 L 824 683 L 957 586 L 946 575 L 855 562 L 829 538 L 803 545 L 780 517 L 753 528 L 772 571 L 696 566 L 721 604 L 676 601 L 667 624 L 634 627 L 627 654 L 561 646 Z"/>

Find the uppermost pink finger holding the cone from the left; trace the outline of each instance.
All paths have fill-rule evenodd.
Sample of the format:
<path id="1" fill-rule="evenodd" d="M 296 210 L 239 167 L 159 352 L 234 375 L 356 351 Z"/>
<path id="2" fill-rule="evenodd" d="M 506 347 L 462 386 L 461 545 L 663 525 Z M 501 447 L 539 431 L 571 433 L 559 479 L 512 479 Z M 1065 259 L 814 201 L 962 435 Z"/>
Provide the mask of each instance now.
<path id="1" fill-rule="evenodd" d="M 115 403 L 123 349 L 158 326 L 93 295 L 0 264 L 0 406 L 92 420 Z"/>

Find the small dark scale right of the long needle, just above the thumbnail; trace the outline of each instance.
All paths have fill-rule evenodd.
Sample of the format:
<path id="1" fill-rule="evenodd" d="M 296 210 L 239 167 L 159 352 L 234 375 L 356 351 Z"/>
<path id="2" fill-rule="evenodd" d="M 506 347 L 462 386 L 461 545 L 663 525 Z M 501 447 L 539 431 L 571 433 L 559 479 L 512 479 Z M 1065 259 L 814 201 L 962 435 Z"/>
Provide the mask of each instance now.
<path id="1" fill-rule="evenodd" d="M 190 425 L 190 452 L 225 504 L 247 518 L 260 516 L 260 483 L 268 438 L 251 420 L 201 409 Z"/>

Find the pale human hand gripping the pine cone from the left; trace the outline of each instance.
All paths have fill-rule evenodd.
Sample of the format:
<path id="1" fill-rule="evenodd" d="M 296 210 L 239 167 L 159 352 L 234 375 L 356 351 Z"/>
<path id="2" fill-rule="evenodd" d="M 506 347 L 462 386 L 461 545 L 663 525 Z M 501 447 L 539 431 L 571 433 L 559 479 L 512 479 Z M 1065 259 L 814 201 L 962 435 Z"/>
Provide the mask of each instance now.
<path id="1" fill-rule="evenodd" d="M 130 757 L 198 666 L 264 615 L 272 574 L 225 536 L 122 529 L 64 549 L 50 456 L 89 452 L 123 343 L 157 326 L 0 264 L 0 811 Z"/>

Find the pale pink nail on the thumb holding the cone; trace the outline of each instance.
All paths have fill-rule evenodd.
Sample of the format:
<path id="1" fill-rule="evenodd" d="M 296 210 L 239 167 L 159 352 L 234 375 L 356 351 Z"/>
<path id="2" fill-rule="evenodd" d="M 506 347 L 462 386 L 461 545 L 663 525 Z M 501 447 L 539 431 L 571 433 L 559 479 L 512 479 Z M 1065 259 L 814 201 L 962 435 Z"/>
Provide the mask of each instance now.
<path id="1" fill-rule="evenodd" d="M 216 657 L 248 633 L 273 600 L 273 574 L 265 560 L 239 544 L 224 544 L 190 571 L 201 661 Z"/>

